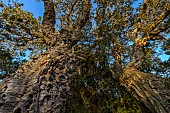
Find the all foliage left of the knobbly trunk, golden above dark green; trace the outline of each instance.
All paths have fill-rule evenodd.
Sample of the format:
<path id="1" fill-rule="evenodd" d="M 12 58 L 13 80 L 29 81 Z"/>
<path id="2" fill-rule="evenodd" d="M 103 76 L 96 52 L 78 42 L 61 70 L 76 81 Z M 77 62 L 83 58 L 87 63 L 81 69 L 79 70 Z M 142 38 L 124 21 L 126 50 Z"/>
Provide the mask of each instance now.
<path id="1" fill-rule="evenodd" d="M 21 9 L 23 4 L 0 3 L 0 78 L 14 73 L 25 62 L 25 51 L 37 52 L 42 44 L 40 22 L 30 12 Z M 22 15 L 22 16 L 21 16 Z M 38 30 L 39 29 L 39 30 Z M 40 47 L 41 46 L 41 47 Z"/>

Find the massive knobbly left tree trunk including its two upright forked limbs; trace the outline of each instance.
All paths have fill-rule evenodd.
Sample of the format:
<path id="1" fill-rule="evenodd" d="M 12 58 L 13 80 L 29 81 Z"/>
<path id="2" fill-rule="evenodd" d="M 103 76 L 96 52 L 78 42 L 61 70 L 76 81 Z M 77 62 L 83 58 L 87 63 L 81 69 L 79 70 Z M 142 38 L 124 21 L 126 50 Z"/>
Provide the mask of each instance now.
<path id="1" fill-rule="evenodd" d="M 69 83 L 79 65 L 75 53 L 77 38 L 89 19 L 90 1 L 85 2 L 84 17 L 74 32 L 64 30 L 54 36 L 55 10 L 52 0 L 44 1 L 43 33 L 48 51 L 32 58 L 17 73 L 4 80 L 0 96 L 0 113 L 64 113 Z"/>

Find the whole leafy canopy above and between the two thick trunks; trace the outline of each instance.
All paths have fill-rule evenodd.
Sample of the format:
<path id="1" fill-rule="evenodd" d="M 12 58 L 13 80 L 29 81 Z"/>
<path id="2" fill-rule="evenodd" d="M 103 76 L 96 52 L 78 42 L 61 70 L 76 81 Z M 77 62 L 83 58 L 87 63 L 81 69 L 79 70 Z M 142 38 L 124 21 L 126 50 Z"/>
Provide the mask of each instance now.
<path id="1" fill-rule="evenodd" d="M 44 0 L 51 8 L 45 7 L 42 20 L 22 10 L 23 4 L 1 1 L 0 43 L 7 49 L 0 50 L 6 56 L 0 56 L 0 61 L 13 64 L 14 58 L 27 51 L 35 57 L 61 40 L 56 34 L 65 33 L 64 41 L 73 43 L 72 52 L 81 51 L 83 57 L 70 84 L 67 112 L 149 112 L 118 77 L 125 67 L 134 66 L 169 78 L 170 58 L 162 61 L 159 55 L 170 54 L 170 4 L 168 0 L 144 0 L 134 7 L 135 2 Z M 7 72 L 7 68 L 3 65 L 1 69 Z"/>

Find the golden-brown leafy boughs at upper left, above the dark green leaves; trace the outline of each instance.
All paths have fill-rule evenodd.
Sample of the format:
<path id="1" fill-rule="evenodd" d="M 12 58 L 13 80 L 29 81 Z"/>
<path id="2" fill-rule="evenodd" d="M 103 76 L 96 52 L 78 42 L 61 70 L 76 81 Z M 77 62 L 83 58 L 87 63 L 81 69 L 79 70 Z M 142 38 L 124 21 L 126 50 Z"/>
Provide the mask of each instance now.
<path id="1" fill-rule="evenodd" d="M 44 49 L 46 43 L 41 20 L 34 18 L 32 13 L 22 10 L 23 4 L 16 2 L 13 2 L 13 5 L 1 4 L 0 44 L 9 48 L 14 56 L 25 54 L 25 51 L 35 54 Z"/>

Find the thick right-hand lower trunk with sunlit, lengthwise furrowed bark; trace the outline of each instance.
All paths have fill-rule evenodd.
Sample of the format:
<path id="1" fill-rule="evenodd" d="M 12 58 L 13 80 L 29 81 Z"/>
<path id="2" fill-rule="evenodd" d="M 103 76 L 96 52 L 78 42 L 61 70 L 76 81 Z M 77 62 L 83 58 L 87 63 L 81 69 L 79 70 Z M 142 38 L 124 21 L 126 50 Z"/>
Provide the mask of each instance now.
<path id="1" fill-rule="evenodd" d="M 120 81 L 152 113 L 170 112 L 170 79 L 143 73 L 135 67 L 127 66 Z"/>

